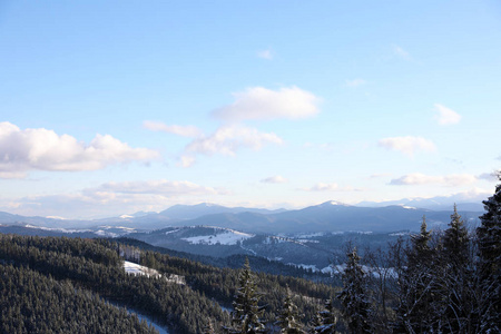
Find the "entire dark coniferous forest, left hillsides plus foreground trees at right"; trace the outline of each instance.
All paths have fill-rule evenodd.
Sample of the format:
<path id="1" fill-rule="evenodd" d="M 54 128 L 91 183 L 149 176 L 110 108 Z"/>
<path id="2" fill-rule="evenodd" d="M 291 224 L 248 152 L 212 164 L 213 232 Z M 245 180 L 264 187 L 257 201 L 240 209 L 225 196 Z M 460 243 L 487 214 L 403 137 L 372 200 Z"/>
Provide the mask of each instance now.
<path id="1" fill-rule="evenodd" d="M 0 235 L 1 333 L 499 333 L 501 184 L 470 228 L 346 245 L 331 284 L 220 268 L 114 239 Z M 124 261 L 161 274 L 127 274 Z M 174 279 L 176 278 L 176 279 Z M 341 279 L 341 281 L 340 281 Z M 341 284 L 338 283 L 341 282 Z"/>

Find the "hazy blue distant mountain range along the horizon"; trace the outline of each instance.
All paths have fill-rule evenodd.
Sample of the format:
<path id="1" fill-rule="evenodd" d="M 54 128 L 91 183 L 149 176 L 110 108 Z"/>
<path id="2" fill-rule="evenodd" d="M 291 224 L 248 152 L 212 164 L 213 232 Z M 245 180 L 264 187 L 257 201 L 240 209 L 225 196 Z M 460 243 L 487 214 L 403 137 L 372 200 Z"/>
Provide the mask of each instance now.
<path id="1" fill-rule="evenodd" d="M 459 213 L 470 224 L 475 224 L 481 210 L 468 210 L 459 206 Z M 289 234 L 316 232 L 416 232 L 423 216 L 429 226 L 445 226 L 452 207 L 431 210 L 407 205 L 383 207 L 351 206 L 326 202 L 295 210 L 267 210 L 219 205 L 176 205 L 161 213 L 138 213 L 96 220 L 61 220 L 46 217 L 23 217 L 0 213 L 0 224 L 33 225 L 48 228 L 90 228 L 102 226 L 132 229 L 160 229 L 169 226 L 217 226 L 253 234 Z"/>

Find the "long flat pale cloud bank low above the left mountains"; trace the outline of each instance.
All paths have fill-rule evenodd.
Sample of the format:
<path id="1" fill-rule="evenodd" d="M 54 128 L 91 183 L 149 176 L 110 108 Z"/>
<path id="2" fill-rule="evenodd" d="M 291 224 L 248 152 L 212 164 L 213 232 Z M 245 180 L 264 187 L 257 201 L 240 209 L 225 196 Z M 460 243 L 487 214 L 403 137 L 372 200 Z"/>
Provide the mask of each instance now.
<path id="1" fill-rule="evenodd" d="M 104 218 L 139 210 L 159 212 L 176 204 L 196 204 L 230 194 L 190 181 L 150 180 L 107 183 L 75 194 L 0 198 L 0 210 L 24 216 Z"/>

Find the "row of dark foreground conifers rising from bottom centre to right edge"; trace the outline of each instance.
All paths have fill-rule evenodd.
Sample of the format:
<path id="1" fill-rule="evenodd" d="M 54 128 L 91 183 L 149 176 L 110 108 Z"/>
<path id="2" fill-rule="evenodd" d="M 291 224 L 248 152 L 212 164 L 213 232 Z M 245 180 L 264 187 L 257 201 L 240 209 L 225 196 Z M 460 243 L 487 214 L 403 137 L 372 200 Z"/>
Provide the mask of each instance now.
<path id="1" fill-rule="evenodd" d="M 444 232 L 429 230 L 423 217 L 419 234 L 409 243 L 400 239 L 387 252 L 369 250 L 361 259 L 356 247 L 348 246 L 342 291 L 327 298 L 307 326 L 298 322 L 302 315 L 289 291 L 276 327 L 264 325 L 247 262 L 233 302 L 232 325 L 223 330 L 233 334 L 500 333 L 501 184 L 483 204 L 485 214 L 474 230 L 466 228 L 454 205 Z"/>

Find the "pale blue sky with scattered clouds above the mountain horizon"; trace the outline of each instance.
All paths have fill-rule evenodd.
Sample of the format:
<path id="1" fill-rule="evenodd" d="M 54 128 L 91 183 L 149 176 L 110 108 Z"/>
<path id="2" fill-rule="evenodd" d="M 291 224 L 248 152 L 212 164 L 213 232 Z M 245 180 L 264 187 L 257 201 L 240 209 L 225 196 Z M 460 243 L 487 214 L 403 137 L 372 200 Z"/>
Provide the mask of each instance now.
<path id="1" fill-rule="evenodd" d="M 1 1 L 0 210 L 481 200 L 501 3 Z"/>

